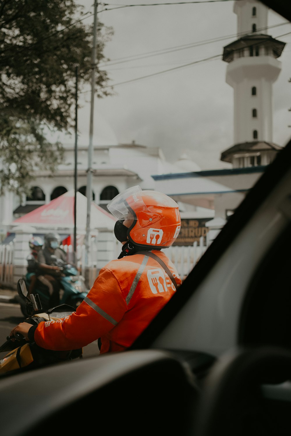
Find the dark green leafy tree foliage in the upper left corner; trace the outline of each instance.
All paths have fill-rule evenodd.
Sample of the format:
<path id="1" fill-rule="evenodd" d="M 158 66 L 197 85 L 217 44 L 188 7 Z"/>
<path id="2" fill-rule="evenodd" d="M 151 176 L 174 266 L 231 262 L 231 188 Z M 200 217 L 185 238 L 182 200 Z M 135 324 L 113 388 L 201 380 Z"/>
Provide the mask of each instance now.
<path id="1" fill-rule="evenodd" d="M 75 66 L 79 91 L 91 80 L 92 20 L 78 21 L 73 0 L 0 0 L 0 190 L 21 194 L 33 168 L 53 172 L 62 146 L 46 140 L 43 126 L 74 125 Z M 89 20 L 86 20 L 87 22 Z M 113 31 L 98 23 L 96 94 L 110 95 L 103 49 Z"/>

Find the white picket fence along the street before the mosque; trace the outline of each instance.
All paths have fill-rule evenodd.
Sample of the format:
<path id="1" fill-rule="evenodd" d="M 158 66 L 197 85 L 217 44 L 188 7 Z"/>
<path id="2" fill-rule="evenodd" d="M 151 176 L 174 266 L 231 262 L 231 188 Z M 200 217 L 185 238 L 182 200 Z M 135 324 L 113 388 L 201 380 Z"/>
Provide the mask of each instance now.
<path id="1" fill-rule="evenodd" d="M 208 241 L 207 241 L 208 242 Z M 207 244 L 206 242 L 206 244 Z M 121 245 L 116 244 L 114 246 L 114 256 L 113 259 L 117 259 L 120 253 Z M 68 253 L 68 262 L 72 262 L 74 258 L 73 247 L 72 245 L 64 245 L 62 248 L 65 252 Z M 167 249 L 164 249 L 164 253 L 168 256 L 168 258 L 173 262 L 176 269 L 178 270 L 179 276 L 181 279 L 184 279 L 185 276 L 193 269 L 195 264 L 199 261 L 201 256 L 204 254 L 207 249 L 207 245 L 204 244 L 204 238 L 200 238 L 199 244 L 194 242 L 193 245 L 189 246 L 171 246 Z M 90 246 L 90 258 L 89 258 L 89 268 L 96 269 L 97 268 L 97 259 L 98 259 L 98 246 L 96 241 L 92 241 Z M 77 267 L 80 269 L 80 272 L 83 276 L 85 276 L 85 255 L 86 255 L 86 247 L 85 245 L 77 246 Z M 10 242 L 7 245 L 0 244 L 0 286 L 13 286 L 13 266 L 14 266 L 14 242 Z"/>

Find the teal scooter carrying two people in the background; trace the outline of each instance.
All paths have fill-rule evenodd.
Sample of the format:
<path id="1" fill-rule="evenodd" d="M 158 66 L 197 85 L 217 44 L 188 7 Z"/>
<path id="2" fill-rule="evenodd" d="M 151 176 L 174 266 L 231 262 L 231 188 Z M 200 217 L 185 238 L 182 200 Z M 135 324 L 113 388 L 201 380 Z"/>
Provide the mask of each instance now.
<path id="1" fill-rule="evenodd" d="M 61 259 L 57 259 L 56 257 L 54 265 L 58 266 L 58 269 L 61 271 L 61 275 L 55 276 L 61 287 L 59 300 L 60 304 L 68 304 L 76 309 L 89 292 L 85 285 L 85 278 L 79 275 L 79 272 L 75 266 L 72 266 L 71 264 L 65 264 L 65 262 L 63 262 Z M 31 272 L 27 272 L 24 280 L 28 288 L 31 280 Z M 43 310 L 48 310 L 48 308 L 51 307 L 51 304 L 47 286 L 40 281 L 37 281 L 34 295 L 35 293 L 37 293 L 39 296 Z M 28 314 L 26 312 L 26 300 L 22 295 L 17 295 L 16 300 L 20 304 L 21 312 L 23 313 L 24 317 L 27 317 Z"/>

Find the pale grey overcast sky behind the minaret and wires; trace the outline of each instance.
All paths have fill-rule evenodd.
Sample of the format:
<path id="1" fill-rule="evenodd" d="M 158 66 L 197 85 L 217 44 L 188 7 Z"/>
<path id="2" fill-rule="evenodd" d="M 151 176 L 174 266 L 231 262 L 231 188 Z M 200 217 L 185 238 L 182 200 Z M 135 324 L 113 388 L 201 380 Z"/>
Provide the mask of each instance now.
<path id="1" fill-rule="evenodd" d="M 99 20 L 114 29 L 104 53 L 111 60 L 105 68 L 115 95 L 96 102 L 94 114 L 99 122 L 94 136 L 102 129 L 98 124 L 107 123 L 117 143 L 134 140 L 161 147 L 170 162 L 187 153 L 202 170 L 229 167 L 220 161 L 220 153 L 233 145 L 233 89 L 226 84 L 227 63 L 221 55 L 223 47 L 236 40 L 234 1 L 150 3 L 163 2 L 113 0 L 106 6 L 112 10 L 101 12 L 104 6 L 98 7 Z M 93 14 L 92 0 L 82 0 L 82 4 L 85 12 Z M 141 4 L 147 6 L 134 6 Z M 84 22 L 93 23 L 93 16 Z M 269 26 L 285 22 L 269 10 Z M 287 43 L 279 58 L 282 70 L 273 85 L 273 141 L 281 146 L 291 137 L 288 32 L 291 24 L 268 30 Z M 220 56 L 202 61 L 216 55 Z M 183 66 L 187 64 L 192 65 Z M 152 76 L 142 78 L 148 75 Z M 90 93 L 80 95 L 79 102 L 85 104 L 87 116 L 79 111 L 78 125 L 89 134 Z"/>

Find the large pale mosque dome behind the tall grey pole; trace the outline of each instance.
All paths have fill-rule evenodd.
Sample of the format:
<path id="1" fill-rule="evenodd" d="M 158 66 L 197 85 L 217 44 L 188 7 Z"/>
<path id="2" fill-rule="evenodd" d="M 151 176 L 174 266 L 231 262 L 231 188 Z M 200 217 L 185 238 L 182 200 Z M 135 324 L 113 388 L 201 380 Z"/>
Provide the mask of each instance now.
<path id="1" fill-rule="evenodd" d="M 98 107 L 97 98 L 94 101 L 93 146 L 117 145 L 118 141 L 112 127 L 104 116 L 95 109 L 96 107 Z M 78 109 L 78 146 L 89 146 L 90 111 L 90 102 L 83 103 L 82 107 Z M 64 147 L 74 146 L 75 130 L 70 129 L 68 132 L 50 133 L 48 140 L 51 142 L 59 141 Z"/>

